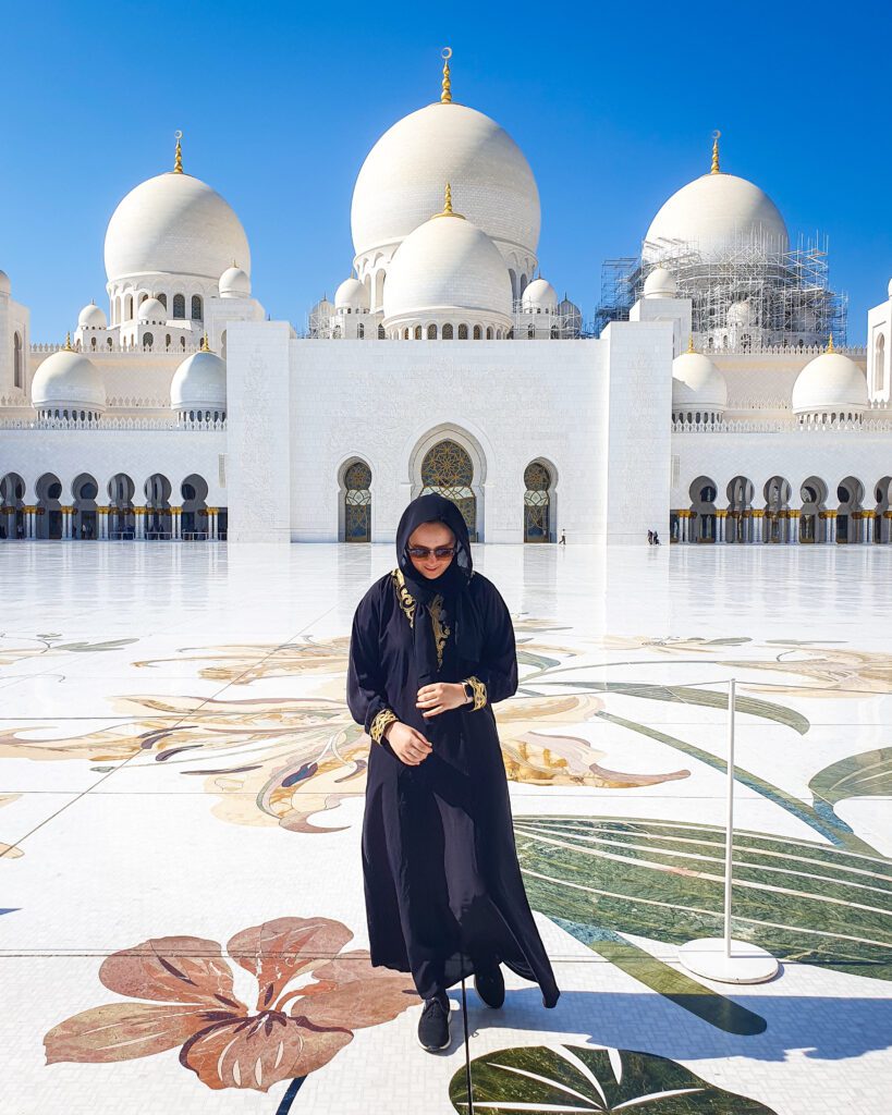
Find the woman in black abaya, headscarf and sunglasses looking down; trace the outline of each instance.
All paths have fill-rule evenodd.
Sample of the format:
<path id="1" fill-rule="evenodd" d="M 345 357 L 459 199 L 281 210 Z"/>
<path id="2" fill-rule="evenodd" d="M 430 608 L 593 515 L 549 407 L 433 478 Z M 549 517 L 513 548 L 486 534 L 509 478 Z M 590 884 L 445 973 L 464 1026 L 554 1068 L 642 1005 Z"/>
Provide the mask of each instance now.
<path id="1" fill-rule="evenodd" d="M 397 529 L 397 565 L 356 610 L 347 700 L 371 737 L 362 871 L 371 962 L 410 971 L 418 1039 L 449 1044 L 446 989 L 474 973 L 502 1006 L 500 963 L 560 995 L 521 879 L 493 702 L 517 689 L 514 630 L 475 573 L 450 501 L 424 495 Z"/>

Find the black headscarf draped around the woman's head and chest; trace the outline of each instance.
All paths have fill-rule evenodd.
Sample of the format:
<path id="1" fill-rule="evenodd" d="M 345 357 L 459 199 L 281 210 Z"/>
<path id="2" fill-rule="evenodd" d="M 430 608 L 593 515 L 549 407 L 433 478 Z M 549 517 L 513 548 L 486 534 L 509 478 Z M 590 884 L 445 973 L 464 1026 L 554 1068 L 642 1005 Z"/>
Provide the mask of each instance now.
<path id="1" fill-rule="evenodd" d="M 417 526 L 437 522 L 445 523 L 455 535 L 456 553 L 439 576 L 427 578 L 417 572 L 406 551 Z M 438 593 L 443 597 L 440 622 L 449 628 L 456 655 L 468 667 L 475 666 L 483 646 L 483 622 L 468 591 L 474 562 L 467 524 L 452 500 L 436 493 L 413 500 L 403 512 L 397 527 L 397 562 L 406 588 L 417 601 L 413 631 L 418 685 L 430 685 L 439 678 L 434 631 L 425 607 Z"/>

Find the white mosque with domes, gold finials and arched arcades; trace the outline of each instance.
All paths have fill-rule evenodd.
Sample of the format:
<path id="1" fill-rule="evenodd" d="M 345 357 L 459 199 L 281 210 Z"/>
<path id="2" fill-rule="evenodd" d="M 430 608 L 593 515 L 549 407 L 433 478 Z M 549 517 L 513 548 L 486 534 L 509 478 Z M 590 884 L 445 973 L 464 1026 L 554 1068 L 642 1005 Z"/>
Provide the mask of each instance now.
<path id="1" fill-rule="evenodd" d="M 440 492 L 477 542 L 892 541 L 892 284 L 846 347 L 826 245 L 716 134 L 586 324 L 544 278 L 530 164 L 453 99 L 449 56 L 362 163 L 352 269 L 299 330 L 266 320 L 180 134 L 64 343 L 32 343 L 0 271 L 0 539 L 384 542 Z"/>

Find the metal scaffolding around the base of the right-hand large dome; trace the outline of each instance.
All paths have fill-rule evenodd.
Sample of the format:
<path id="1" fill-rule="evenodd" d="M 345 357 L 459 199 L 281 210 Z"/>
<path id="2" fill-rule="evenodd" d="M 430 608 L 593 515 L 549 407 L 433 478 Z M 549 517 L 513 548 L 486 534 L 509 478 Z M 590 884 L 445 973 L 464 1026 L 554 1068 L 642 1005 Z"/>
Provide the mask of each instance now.
<path id="1" fill-rule="evenodd" d="M 801 236 L 786 252 L 748 239 L 718 255 L 680 241 L 646 241 L 641 256 L 604 262 L 597 336 L 611 321 L 629 319 L 658 264 L 672 273 L 677 297 L 690 299 L 694 338 L 701 349 L 823 345 L 831 333 L 840 346 L 846 343 L 849 300 L 830 289 L 827 239 L 820 235 Z"/>

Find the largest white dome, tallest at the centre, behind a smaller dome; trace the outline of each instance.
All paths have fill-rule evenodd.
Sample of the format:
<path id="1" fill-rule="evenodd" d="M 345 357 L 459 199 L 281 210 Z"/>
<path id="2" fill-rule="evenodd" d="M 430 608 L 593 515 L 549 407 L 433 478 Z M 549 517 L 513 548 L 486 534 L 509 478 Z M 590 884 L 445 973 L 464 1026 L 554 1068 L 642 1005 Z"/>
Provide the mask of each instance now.
<path id="1" fill-rule="evenodd" d="M 498 243 L 535 255 L 541 212 L 533 172 L 511 136 L 474 108 L 433 104 L 395 124 L 353 188 L 357 256 L 399 243 L 436 213 L 452 182 L 462 212 Z M 389 282 L 389 279 L 388 279 Z"/>

